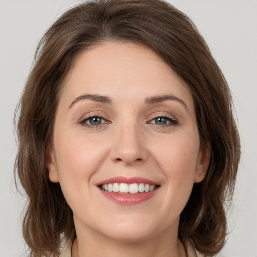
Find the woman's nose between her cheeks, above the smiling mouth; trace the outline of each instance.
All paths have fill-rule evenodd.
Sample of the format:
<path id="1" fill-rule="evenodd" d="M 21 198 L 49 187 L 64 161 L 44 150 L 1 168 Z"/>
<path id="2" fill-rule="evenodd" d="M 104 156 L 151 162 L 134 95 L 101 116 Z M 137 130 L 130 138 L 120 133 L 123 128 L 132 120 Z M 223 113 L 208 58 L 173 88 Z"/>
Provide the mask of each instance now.
<path id="1" fill-rule="evenodd" d="M 142 129 L 137 125 L 126 125 L 114 133 L 111 159 L 126 166 L 137 166 L 148 158 L 148 151 Z"/>

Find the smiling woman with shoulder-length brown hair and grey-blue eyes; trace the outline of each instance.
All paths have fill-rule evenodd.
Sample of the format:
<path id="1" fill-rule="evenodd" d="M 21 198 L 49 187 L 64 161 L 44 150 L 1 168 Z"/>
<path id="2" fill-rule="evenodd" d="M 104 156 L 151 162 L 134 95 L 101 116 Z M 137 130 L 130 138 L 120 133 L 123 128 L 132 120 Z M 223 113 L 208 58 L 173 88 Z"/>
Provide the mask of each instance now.
<path id="1" fill-rule="evenodd" d="M 31 256 L 220 252 L 240 156 L 231 104 L 204 39 L 168 3 L 63 14 L 20 102 Z"/>

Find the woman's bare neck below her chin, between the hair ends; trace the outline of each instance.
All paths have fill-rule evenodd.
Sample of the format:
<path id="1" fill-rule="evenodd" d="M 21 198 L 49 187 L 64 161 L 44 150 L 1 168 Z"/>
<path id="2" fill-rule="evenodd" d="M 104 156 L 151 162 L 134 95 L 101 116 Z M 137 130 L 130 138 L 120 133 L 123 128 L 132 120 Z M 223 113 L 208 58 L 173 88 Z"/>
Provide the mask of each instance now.
<path id="1" fill-rule="evenodd" d="M 168 234 L 170 230 L 153 238 L 134 242 L 124 242 L 106 237 L 95 231 L 80 234 L 73 243 L 72 257 L 186 257 L 186 251 L 176 236 Z"/>

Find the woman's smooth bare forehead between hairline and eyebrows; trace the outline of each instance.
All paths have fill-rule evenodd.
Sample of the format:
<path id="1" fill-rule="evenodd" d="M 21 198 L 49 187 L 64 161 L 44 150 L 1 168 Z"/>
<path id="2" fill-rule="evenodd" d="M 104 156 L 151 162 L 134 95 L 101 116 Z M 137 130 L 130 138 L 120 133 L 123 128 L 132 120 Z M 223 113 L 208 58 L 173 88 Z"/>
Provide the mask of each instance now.
<path id="1" fill-rule="evenodd" d="M 108 95 L 114 100 L 173 94 L 193 102 L 185 83 L 160 56 L 131 42 L 105 42 L 78 54 L 62 94 L 71 101 L 85 93 Z"/>

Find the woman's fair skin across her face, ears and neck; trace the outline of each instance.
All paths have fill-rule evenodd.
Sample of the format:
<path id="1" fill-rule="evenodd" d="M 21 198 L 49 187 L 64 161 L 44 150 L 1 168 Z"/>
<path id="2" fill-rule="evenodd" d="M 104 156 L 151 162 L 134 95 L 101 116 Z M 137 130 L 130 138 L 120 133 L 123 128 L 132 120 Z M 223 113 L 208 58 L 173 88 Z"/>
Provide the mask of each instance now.
<path id="1" fill-rule="evenodd" d="M 84 94 L 112 103 L 75 101 Z M 179 100 L 145 103 L 157 95 Z M 103 117 L 101 124 L 87 127 L 89 116 Z M 60 183 L 73 211 L 73 257 L 186 256 L 177 237 L 179 215 L 193 184 L 205 176 L 209 149 L 200 145 L 187 86 L 151 49 L 114 41 L 77 56 L 47 156 L 49 178 Z M 151 179 L 160 188 L 140 204 L 120 205 L 96 186 L 116 176 Z"/>

